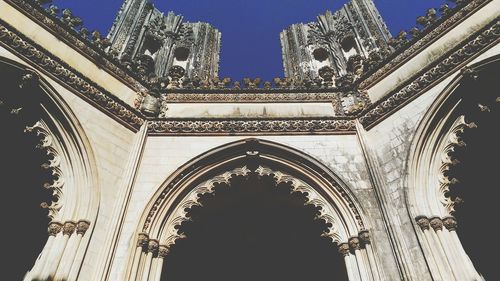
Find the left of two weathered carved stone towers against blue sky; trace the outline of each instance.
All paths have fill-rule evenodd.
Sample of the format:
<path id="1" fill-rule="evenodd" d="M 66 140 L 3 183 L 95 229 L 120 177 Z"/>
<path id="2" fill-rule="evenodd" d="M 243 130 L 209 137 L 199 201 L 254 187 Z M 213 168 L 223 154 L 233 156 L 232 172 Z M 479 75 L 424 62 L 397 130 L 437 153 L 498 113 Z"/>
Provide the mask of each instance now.
<path id="1" fill-rule="evenodd" d="M 126 0 L 108 38 L 112 52 L 137 63 L 146 75 L 217 77 L 220 32 L 208 23 L 184 22 L 173 12 L 164 15 L 147 0 Z"/>

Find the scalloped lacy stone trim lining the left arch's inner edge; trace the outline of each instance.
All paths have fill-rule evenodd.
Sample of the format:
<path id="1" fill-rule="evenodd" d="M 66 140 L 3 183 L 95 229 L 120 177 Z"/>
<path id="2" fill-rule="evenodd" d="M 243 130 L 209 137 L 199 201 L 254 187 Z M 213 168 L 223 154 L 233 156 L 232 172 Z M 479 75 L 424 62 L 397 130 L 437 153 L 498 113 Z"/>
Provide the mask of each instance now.
<path id="1" fill-rule="evenodd" d="M 50 170 L 53 181 L 51 183 L 45 183 L 44 188 L 52 191 L 53 201 L 48 203 L 42 203 L 42 207 L 49 210 L 49 218 L 54 220 L 62 208 L 62 197 L 64 186 L 63 172 L 61 171 L 61 157 L 56 144 L 54 142 L 53 134 L 50 132 L 49 127 L 45 122 L 38 121 L 33 126 L 28 126 L 25 129 L 26 133 L 35 133 L 40 137 L 40 144 L 37 145 L 38 149 L 45 150 L 49 158 L 49 162 L 42 165 L 42 168 Z"/>

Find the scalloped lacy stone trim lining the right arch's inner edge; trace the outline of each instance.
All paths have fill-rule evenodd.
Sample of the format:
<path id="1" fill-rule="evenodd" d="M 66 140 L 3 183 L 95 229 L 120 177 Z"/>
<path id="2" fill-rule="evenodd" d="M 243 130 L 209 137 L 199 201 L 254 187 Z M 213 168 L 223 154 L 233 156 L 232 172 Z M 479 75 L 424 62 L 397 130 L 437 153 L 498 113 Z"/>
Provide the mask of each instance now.
<path id="1" fill-rule="evenodd" d="M 459 198 L 452 199 L 448 195 L 450 187 L 458 182 L 457 179 L 450 178 L 448 175 L 451 167 L 459 163 L 458 159 L 454 158 L 453 152 L 455 152 L 458 147 L 465 146 L 460 135 L 463 134 L 466 129 L 471 128 L 476 128 L 476 124 L 465 122 L 465 117 L 463 115 L 455 120 L 441 156 L 441 166 L 439 167 L 440 186 L 437 196 L 449 214 L 455 212 L 455 205 L 460 202 Z"/>

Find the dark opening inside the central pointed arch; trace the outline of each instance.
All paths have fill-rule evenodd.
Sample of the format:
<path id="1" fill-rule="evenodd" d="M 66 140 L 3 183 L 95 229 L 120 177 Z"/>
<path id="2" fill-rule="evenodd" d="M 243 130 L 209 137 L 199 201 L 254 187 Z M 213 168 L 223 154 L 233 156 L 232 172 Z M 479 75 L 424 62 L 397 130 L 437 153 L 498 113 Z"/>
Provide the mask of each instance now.
<path id="1" fill-rule="evenodd" d="M 189 210 L 162 280 L 347 280 L 318 209 L 289 184 L 255 173 L 218 184 Z"/>

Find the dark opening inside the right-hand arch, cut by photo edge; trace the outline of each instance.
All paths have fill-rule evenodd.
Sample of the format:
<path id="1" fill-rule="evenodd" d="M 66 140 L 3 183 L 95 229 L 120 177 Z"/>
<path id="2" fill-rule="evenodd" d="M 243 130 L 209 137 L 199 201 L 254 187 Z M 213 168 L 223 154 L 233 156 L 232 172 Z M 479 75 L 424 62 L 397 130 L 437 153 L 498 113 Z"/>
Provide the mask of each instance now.
<path id="1" fill-rule="evenodd" d="M 467 122 L 477 128 L 460 135 L 465 146 L 452 154 L 458 160 L 450 169 L 449 177 L 458 180 L 450 188 L 450 196 L 457 200 L 454 216 L 457 233 L 476 269 L 486 280 L 500 280 L 498 262 L 491 258 L 496 239 L 489 231 L 496 227 L 498 205 L 493 195 L 500 188 L 500 101 L 498 69 L 493 63 L 477 73 L 477 78 L 466 78 L 458 89 L 463 97 L 460 112 Z M 475 75 L 475 74 L 474 74 Z"/>

